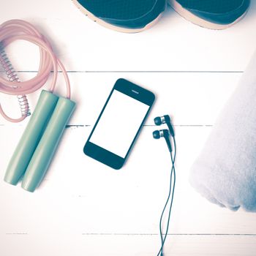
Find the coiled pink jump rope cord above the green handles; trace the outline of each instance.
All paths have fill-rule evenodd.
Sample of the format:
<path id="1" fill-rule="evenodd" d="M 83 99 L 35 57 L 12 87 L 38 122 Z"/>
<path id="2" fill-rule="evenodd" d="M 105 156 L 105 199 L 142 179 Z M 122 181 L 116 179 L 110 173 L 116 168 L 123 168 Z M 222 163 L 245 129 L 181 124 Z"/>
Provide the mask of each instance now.
<path id="1" fill-rule="evenodd" d="M 34 43 L 40 50 L 40 62 L 37 75 L 25 82 L 10 81 L 0 77 L 0 92 L 4 94 L 20 95 L 31 94 L 40 89 L 48 80 L 51 70 L 53 69 L 53 80 L 50 86 L 50 92 L 53 92 L 56 86 L 58 76 L 58 66 L 60 67 L 67 85 L 67 98 L 70 99 L 70 83 L 67 71 L 56 55 L 46 39 L 39 31 L 30 23 L 24 20 L 9 20 L 0 25 L 0 42 L 5 47 L 15 40 L 26 40 Z M 1 61 L 1 60 L 0 60 Z M 26 116 L 14 119 L 4 113 L 0 104 L 0 113 L 8 121 L 23 121 Z"/>

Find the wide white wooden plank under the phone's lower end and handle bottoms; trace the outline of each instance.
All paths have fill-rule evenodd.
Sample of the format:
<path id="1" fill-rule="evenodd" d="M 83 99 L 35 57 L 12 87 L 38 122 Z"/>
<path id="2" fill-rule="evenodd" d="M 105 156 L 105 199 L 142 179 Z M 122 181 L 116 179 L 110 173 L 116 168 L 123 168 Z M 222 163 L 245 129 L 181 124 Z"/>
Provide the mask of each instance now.
<path id="1" fill-rule="evenodd" d="M 169 186 L 170 159 L 164 140 L 151 137 L 154 129 L 144 127 L 127 165 L 118 171 L 83 154 L 91 127 L 67 129 L 45 181 L 34 194 L 1 181 L 1 195 L 8 195 L 8 200 L 0 198 L 1 230 L 63 233 L 68 228 L 71 233 L 158 233 Z M 170 233 L 255 234 L 255 214 L 219 208 L 189 185 L 189 167 L 211 129 L 176 128 L 177 186 Z M 20 127 L 1 127 L 5 145 L 0 152 L 1 177 L 20 132 Z"/>

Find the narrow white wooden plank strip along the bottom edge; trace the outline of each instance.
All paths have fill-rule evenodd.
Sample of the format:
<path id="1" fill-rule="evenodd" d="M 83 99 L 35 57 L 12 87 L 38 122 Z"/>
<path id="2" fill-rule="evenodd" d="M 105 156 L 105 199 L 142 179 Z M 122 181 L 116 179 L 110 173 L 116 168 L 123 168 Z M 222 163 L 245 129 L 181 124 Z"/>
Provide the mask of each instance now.
<path id="1" fill-rule="evenodd" d="M 52 233 L 1 234 L 4 255 L 157 255 L 159 236 Z M 15 244 L 15 246 L 13 246 Z M 165 255 L 255 256 L 256 236 L 168 236 Z"/>

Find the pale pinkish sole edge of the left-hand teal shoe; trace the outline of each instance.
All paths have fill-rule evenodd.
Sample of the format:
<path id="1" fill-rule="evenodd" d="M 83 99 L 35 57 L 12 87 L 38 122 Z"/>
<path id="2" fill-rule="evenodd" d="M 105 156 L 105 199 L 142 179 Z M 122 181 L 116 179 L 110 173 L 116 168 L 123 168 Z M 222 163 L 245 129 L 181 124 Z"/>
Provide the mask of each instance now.
<path id="1" fill-rule="evenodd" d="M 123 33 L 138 33 L 138 32 L 141 32 L 141 31 L 145 31 L 146 29 L 150 29 L 162 17 L 162 13 L 163 13 L 163 12 L 161 12 L 157 16 L 157 18 L 152 20 L 151 23 L 148 23 L 146 26 L 144 26 L 141 29 L 126 29 L 126 28 L 122 28 L 122 27 L 119 27 L 119 26 L 111 25 L 110 23 L 107 23 L 104 20 L 101 20 L 101 19 L 97 18 L 91 12 L 89 12 L 89 10 L 86 10 L 86 8 L 83 7 L 83 5 L 81 5 L 77 0 L 72 0 L 72 2 L 75 4 L 76 7 L 78 7 L 78 9 L 81 12 L 83 12 L 84 15 L 86 15 L 91 20 L 94 20 L 94 22 L 97 22 L 99 25 L 104 26 L 107 29 L 112 29 L 112 30 L 115 30 L 115 31 L 118 31 L 118 32 L 123 32 Z"/>

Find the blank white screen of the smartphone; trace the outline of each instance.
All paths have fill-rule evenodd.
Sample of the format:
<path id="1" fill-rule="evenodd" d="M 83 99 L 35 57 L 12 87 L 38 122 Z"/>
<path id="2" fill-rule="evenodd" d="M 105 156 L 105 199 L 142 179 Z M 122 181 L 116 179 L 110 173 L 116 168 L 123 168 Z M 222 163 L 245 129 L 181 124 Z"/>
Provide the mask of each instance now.
<path id="1" fill-rule="evenodd" d="M 90 142 L 124 158 L 149 105 L 120 91 L 113 91 Z"/>

